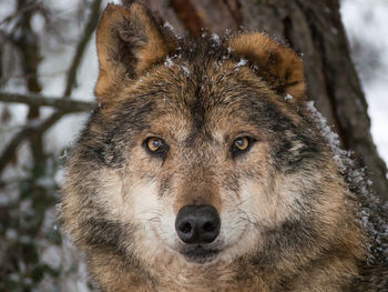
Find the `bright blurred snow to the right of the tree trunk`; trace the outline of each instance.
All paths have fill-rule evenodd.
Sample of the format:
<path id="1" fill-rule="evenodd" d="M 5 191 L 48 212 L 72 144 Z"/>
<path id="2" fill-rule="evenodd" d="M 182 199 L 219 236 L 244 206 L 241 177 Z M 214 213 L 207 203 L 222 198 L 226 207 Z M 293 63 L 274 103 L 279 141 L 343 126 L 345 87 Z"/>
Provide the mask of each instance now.
<path id="1" fill-rule="evenodd" d="M 343 0 L 340 12 L 369 105 L 371 133 L 388 161 L 388 1 Z"/>

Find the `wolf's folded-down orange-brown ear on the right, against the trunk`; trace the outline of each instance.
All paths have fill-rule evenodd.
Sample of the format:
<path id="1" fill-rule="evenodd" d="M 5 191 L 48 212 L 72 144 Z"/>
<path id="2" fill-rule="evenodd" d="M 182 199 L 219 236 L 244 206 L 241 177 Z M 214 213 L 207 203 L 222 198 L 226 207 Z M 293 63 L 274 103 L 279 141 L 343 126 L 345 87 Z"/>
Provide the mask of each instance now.
<path id="1" fill-rule="evenodd" d="M 297 100 L 304 99 L 306 84 L 303 63 L 292 49 L 258 32 L 232 37 L 227 46 L 233 56 L 247 59 L 256 66 L 274 90 L 288 93 Z"/>

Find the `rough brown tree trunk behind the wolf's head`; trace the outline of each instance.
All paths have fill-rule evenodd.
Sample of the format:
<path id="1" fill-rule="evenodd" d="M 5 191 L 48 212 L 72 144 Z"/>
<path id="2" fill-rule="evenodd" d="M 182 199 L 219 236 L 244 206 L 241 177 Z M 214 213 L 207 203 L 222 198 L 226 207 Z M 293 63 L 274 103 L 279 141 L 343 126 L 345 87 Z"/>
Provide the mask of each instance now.
<path id="1" fill-rule="evenodd" d="M 285 40 L 303 56 L 307 99 L 354 151 L 358 167 L 367 167 L 372 190 L 388 201 L 387 168 L 370 134 L 361 84 L 350 59 L 338 0 L 163 0 L 145 1 L 178 33 L 200 37 L 202 29 L 264 31 Z"/>

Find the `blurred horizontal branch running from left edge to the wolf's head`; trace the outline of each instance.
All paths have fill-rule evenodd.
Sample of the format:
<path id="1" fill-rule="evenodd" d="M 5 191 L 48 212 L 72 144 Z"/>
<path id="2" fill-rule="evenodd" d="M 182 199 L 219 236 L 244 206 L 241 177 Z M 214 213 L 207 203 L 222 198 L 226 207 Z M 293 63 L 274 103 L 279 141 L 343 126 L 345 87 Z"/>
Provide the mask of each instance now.
<path id="1" fill-rule="evenodd" d="M 53 107 L 64 113 L 90 111 L 94 107 L 94 102 L 72 100 L 70 98 L 61 99 L 34 93 L 20 94 L 3 91 L 0 91 L 0 101 L 25 103 L 33 107 Z"/>

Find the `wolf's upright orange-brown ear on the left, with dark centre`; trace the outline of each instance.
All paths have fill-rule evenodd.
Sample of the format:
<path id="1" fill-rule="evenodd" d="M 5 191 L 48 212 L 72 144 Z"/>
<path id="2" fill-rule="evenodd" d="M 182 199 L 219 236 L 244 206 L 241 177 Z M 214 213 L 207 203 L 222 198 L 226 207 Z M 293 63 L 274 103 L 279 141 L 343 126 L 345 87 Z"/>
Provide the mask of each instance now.
<path id="1" fill-rule="evenodd" d="M 99 80 L 95 94 L 99 101 L 104 92 L 123 79 L 136 79 L 153 64 L 162 61 L 174 46 L 171 36 L 164 36 L 144 6 L 129 8 L 108 4 L 96 31 Z"/>

